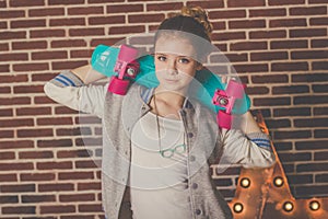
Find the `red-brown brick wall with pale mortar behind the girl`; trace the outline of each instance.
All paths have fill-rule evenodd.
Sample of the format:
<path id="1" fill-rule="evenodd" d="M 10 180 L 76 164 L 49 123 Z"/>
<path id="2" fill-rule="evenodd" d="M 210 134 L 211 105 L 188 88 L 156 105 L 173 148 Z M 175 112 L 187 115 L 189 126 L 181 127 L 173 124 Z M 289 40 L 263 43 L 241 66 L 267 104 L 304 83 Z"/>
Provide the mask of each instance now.
<path id="1" fill-rule="evenodd" d="M 1 218 L 103 218 L 99 120 L 43 85 L 184 4 L 210 12 L 214 44 L 265 115 L 293 194 L 328 195 L 327 0 L 0 0 Z M 237 174 L 215 176 L 227 199 Z"/>

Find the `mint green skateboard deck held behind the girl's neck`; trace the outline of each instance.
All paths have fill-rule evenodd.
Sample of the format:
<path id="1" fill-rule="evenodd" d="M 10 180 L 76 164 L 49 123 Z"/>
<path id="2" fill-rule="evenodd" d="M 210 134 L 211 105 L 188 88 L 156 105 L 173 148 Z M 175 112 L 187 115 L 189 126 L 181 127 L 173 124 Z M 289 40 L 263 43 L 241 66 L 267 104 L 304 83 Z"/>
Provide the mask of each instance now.
<path id="1" fill-rule="evenodd" d="M 91 65 L 94 70 L 107 76 L 113 77 L 117 73 L 114 71 L 116 59 L 119 54 L 119 48 L 105 45 L 98 45 L 91 58 Z M 159 85 L 159 80 L 155 76 L 154 57 L 151 55 L 142 56 L 137 59 L 140 64 L 139 73 L 137 74 L 134 82 L 144 85 L 147 88 L 155 88 Z M 195 78 L 199 83 L 191 85 L 192 93 L 196 99 L 204 106 L 218 113 L 219 110 L 224 110 L 212 103 L 212 97 L 216 89 L 224 90 L 225 85 L 222 83 L 221 78 L 209 70 L 200 70 L 196 72 Z M 249 97 L 244 94 L 243 99 L 235 102 L 233 113 L 244 114 L 250 107 Z"/>

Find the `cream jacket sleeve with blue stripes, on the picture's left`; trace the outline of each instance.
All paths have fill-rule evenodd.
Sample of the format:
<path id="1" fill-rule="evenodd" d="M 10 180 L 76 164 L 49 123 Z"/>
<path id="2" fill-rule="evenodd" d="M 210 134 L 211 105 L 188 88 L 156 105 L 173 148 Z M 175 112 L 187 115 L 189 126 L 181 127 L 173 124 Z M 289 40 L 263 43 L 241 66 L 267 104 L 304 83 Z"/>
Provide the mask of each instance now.
<path id="1" fill-rule="evenodd" d="M 103 117 L 107 84 L 85 85 L 75 74 L 67 70 L 48 81 L 44 91 L 57 103 Z"/>

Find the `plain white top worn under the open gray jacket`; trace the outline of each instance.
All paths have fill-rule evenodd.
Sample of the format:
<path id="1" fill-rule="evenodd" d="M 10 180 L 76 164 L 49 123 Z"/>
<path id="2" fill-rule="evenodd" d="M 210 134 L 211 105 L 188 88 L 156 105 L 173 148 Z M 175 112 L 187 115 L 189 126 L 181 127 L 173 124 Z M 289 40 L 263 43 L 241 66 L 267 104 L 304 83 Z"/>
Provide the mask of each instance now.
<path id="1" fill-rule="evenodd" d="M 181 120 L 159 116 L 159 125 L 162 150 L 177 146 L 178 149 L 184 148 Z M 160 154 L 157 127 L 156 116 L 150 112 L 139 119 L 132 130 L 130 186 L 133 219 L 189 219 L 187 151 L 163 158 Z"/>

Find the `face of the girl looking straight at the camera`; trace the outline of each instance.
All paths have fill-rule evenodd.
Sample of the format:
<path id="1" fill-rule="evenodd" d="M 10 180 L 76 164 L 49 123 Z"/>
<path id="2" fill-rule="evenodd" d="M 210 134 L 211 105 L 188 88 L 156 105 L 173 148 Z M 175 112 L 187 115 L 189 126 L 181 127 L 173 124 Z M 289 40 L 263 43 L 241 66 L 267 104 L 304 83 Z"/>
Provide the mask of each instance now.
<path id="1" fill-rule="evenodd" d="M 194 58 L 196 51 L 187 39 L 162 36 L 155 44 L 155 70 L 159 88 L 185 92 L 201 65 Z"/>

